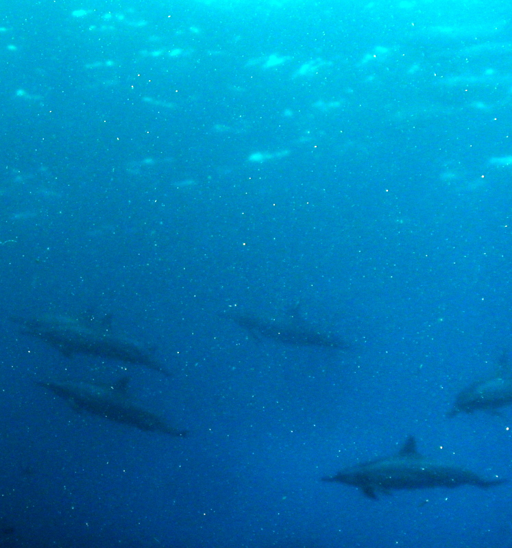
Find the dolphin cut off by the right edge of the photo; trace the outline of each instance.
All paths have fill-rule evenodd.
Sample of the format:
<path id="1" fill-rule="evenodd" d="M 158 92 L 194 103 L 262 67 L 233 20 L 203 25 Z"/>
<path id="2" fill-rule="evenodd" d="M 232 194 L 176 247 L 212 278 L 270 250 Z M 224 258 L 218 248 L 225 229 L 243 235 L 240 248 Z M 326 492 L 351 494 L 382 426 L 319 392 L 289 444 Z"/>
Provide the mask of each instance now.
<path id="1" fill-rule="evenodd" d="M 496 413 L 498 408 L 510 403 L 512 403 L 512 372 L 508 354 L 504 352 L 498 361 L 497 376 L 474 382 L 461 390 L 448 416 L 455 416 L 461 412 L 472 413 L 477 410 Z"/>

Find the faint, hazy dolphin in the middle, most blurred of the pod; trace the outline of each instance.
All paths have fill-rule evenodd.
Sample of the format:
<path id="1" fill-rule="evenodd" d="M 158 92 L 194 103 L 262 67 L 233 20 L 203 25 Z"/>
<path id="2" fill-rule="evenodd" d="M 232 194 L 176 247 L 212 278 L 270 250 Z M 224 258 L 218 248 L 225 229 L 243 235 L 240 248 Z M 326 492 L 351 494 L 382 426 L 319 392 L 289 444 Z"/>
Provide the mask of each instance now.
<path id="1" fill-rule="evenodd" d="M 306 321 L 297 308 L 289 314 L 279 316 L 257 316 L 256 314 L 229 310 L 225 312 L 240 327 L 254 336 L 254 338 L 269 338 L 280 343 L 293 346 L 327 347 L 334 349 L 348 349 L 348 343 L 338 334 L 317 329 L 315 325 Z"/>

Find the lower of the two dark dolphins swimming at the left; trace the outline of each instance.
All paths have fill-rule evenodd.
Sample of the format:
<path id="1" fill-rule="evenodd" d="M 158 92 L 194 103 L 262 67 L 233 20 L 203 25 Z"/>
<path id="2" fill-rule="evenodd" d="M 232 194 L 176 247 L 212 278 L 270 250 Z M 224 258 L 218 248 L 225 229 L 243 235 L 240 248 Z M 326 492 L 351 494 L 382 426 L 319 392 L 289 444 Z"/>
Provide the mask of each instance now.
<path id="1" fill-rule="evenodd" d="M 128 377 L 115 384 L 92 382 L 36 382 L 65 399 L 75 410 L 86 410 L 117 423 L 132 425 L 146 432 L 186 436 L 186 430 L 171 427 L 162 417 L 141 408 L 127 395 Z"/>

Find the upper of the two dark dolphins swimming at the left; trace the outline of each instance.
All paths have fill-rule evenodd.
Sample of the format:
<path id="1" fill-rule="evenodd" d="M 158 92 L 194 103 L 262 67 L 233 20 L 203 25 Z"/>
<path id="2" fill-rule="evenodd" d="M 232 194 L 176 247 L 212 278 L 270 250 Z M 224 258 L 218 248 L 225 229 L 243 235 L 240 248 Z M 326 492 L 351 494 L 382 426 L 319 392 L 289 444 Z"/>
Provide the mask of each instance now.
<path id="1" fill-rule="evenodd" d="M 151 353 L 139 343 L 111 333 L 112 316 L 98 319 L 76 319 L 62 314 L 43 314 L 36 318 L 12 316 L 21 325 L 21 332 L 33 335 L 58 349 L 64 356 L 74 353 L 112 358 L 153 369 L 170 377 Z"/>

